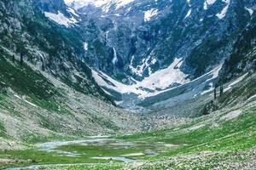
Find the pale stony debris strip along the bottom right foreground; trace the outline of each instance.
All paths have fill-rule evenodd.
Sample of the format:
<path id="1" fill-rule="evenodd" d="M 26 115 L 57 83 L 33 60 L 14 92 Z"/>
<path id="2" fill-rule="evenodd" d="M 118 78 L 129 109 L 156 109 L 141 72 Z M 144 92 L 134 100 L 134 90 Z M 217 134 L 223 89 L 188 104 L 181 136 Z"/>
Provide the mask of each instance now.
<path id="1" fill-rule="evenodd" d="M 166 159 L 168 159 L 166 157 Z M 168 161 L 135 162 L 125 166 L 125 169 L 255 169 L 255 149 L 250 151 L 201 152 L 197 155 L 176 156 Z"/>

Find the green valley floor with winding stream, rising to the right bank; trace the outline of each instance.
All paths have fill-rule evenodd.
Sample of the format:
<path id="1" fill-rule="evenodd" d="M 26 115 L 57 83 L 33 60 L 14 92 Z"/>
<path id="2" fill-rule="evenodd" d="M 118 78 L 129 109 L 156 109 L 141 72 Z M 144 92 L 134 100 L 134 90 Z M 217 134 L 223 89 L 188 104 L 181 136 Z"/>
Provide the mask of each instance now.
<path id="1" fill-rule="evenodd" d="M 255 122 L 256 102 L 252 100 L 157 132 L 88 137 L 1 151 L 0 165 L 15 167 L 9 170 L 254 169 Z"/>

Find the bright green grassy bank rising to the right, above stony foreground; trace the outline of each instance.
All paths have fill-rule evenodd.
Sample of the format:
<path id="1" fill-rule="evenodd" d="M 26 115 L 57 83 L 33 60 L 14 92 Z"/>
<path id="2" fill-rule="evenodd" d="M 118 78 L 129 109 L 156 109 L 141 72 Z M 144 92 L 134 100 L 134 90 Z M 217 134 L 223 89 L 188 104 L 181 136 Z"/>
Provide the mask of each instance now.
<path id="1" fill-rule="evenodd" d="M 162 141 L 171 144 L 188 144 L 166 154 L 174 156 L 184 153 L 197 153 L 203 150 L 246 150 L 256 144 L 256 107 L 228 122 L 218 122 L 219 127 L 206 124 L 195 131 L 172 132 L 172 130 L 159 133 L 136 134 L 122 137 L 123 139 L 147 139 L 151 142 Z M 169 133 L 169 134 L 168 134 Z"/>

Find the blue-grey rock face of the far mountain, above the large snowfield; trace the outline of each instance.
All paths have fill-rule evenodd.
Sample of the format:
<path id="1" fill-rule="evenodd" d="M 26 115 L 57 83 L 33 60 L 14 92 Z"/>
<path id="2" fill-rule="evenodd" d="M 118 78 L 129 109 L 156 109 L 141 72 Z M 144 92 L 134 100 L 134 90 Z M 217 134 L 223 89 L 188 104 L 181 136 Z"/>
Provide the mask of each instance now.
<path id="1" fill-rule="evenodd" d="M 86 18 L 82 29 L 94 26 L 94 31 L 84 34 L 90 46 L 85 59 L 122 81 L 142 80 L 171 65 L 174 58 L 183 58 L 182 71 L 190 78 L 200 77 L 229 57 L 255 3 L 133 1 L 122 8 L 107 6 L 108 11 L 106 5 L 94 7 L 93 3 L 78 9 Z M 113 51 L 115 63 L 111 62 Z"/>

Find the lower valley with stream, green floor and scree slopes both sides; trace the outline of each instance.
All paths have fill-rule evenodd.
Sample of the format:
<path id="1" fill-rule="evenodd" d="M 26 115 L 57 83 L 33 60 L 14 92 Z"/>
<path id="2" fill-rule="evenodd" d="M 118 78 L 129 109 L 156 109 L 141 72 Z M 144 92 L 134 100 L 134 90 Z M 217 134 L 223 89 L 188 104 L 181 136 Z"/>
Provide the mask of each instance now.
<path id="1" fill-rule="evenodd" d="M 196 105 L 206 116 L 172 119 L 173 108 L 133 114 L 36 70 L 0 58 L 0 169 L 256 169 L 255 74 Z M 189 105 L 212 91 L 202 96 Z"/>

